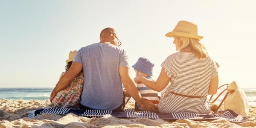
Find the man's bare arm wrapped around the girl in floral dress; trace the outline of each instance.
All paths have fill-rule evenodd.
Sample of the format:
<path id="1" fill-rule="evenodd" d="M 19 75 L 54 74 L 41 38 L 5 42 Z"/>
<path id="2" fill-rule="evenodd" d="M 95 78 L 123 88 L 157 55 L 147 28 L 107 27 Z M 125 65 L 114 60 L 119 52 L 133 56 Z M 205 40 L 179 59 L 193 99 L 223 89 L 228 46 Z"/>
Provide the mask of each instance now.
<path id="1" fill-rule="evenodd" d="M 66 88 L 68 84 L 81 72 L 83 65 L 81 63 L 73 62 L 70 69 L 61 77 L 55 88 L 52 90 L 50 101 L 55 97 L 55 95 Z"/>

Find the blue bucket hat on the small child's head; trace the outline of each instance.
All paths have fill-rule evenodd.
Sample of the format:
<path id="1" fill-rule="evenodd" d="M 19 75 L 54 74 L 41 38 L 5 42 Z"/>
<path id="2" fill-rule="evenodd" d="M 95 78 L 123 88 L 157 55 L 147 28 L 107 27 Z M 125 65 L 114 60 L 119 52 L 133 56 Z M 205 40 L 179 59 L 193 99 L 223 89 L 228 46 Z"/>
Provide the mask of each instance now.
<path id="1" fill-rule="evenodd" d="M 134 64 L 132 67 L 149 76 L 153 76 L 152 71 L 153 71 L 154 64 L 147 58 L 140 57 L 136 62 L 136 64 Z"/>

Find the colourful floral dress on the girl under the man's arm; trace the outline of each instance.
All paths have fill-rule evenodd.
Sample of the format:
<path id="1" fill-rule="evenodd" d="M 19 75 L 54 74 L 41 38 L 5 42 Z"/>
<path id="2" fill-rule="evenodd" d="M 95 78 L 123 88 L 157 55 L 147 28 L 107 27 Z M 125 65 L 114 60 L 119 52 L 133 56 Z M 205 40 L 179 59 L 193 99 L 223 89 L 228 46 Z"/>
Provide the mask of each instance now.
<path id="1" fill-rule="evenodd" d="M 61 73 L 61 77 L 64 74 L 65 73 Z M 56 96 L 52 99 L 51 106 L 59 108 L 78 108 L 80 105 L 83 86 L 84 75 L 83 73 L 80 73 L 65 89 L 56 94 Z"/>

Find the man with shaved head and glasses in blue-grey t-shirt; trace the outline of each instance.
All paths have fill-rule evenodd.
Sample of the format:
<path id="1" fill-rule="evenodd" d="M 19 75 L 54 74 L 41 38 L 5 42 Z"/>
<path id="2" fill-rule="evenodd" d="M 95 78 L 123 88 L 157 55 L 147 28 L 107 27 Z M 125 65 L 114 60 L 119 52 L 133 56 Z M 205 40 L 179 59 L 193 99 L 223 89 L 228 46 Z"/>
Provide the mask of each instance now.
<path id="1" fill-rule="evenodd" d="M 83 70 L 84 87 L 81 94 L 81 109 L 119 111 L 125 106 L 122 84 L 129 96 L 146 111 L 157 107 L 141 97 L 129 75 L 128 55 L 120 48 L 121 42 L 113 28 L 100 33 L 100 42 L 82 47 L 76 54 L 70 69 L 58 81 L 50 100 L 63 90 Z"/>

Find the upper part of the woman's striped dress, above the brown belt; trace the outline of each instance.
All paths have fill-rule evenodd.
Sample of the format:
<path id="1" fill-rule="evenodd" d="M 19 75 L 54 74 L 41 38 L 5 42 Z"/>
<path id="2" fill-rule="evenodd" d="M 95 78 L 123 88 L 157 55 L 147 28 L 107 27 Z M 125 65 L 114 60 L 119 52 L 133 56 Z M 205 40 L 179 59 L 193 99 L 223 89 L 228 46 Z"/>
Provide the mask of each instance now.
<path id="1" fill-rule="evenodd" d="M 217 75 L 215 62 L 208 56 L 198 59 L 191 52 L 176 52 L 162 64 L 171 76 L 169 91 L 187 96 L 207 96 L 209 83 Z"/>

